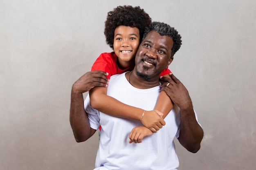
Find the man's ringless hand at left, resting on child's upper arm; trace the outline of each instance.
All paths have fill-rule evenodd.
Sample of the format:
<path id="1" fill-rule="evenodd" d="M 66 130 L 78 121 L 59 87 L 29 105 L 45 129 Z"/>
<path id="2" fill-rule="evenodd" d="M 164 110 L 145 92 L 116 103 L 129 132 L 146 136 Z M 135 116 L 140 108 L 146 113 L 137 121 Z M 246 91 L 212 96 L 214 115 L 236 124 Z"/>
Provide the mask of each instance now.
<path id="1" fill-rule="evenodd" d="M 72 86 L 74 93 L 85 93 L 94 87 L 107 87 L 108 73 L 104 71 L 89 71 L 82 75 Z"/>

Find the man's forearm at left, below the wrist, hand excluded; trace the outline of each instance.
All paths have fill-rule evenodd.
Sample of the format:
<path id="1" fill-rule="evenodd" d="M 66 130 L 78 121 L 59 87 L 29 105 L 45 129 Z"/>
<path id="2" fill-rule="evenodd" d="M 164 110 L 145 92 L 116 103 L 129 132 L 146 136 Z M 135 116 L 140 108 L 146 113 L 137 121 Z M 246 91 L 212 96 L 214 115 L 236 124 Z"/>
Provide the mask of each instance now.
<path id="1" fill-rule="evenodd" d="M 86 141 L 93 135 L 88 115 L 83 106 L 83 94 L 75 93 L 73 90 L 70 104 L 70 125 L 77 142 Z"/>

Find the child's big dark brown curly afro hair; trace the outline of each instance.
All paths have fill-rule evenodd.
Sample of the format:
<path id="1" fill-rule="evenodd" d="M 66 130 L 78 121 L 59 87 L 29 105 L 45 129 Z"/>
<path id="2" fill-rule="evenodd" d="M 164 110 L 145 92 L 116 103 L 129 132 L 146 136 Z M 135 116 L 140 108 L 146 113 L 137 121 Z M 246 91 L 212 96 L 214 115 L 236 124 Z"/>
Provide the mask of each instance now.
<path id="1" fill-rule="evenodd" d="M 151 22 L 152 21 L 148 13 L 146 13 L 144 9 L 141 9 L 139 6 L 118 6 L 113 9 L 113 11 L 108 12 L 108 16 L 105 21 L 104 34 L 106 37 L 106 43 L 110 46 L 110 48 L 114 49 L 113 44 L 115 29 L 120 25 L 138 28 L 141 42 L 145 27 Z"/>

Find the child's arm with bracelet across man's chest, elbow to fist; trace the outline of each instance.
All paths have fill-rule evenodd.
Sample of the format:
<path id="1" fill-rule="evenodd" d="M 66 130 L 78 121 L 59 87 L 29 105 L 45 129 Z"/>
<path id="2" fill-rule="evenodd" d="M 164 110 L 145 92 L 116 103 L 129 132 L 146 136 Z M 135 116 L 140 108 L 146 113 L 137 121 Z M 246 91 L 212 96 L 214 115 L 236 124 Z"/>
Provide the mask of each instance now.
<path id="1" fill-rule="evenodd" d="M 93 108 L 116 117 L 141 120 L 141 123 L 149 128 L 152 132 L 157 132 L 165 121 L 157 113 L 157 110 L 145 111 L 141 108 L 129 106 L 117 99 L 107 95 L 107 88 L 95 87 L 89 91 L 90 102 Z M 143 119 L 141 119 L 144 113 Z"/>

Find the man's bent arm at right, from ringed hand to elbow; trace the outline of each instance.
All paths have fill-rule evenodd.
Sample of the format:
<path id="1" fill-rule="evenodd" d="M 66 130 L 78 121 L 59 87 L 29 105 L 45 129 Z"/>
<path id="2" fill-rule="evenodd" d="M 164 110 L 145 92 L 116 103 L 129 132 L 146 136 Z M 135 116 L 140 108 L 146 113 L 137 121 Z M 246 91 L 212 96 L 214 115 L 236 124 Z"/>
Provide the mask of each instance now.
<path id="1" fill-rule="evenodd" d="M 178 140 L 190 152 L 198 152 L 204 132 L 198 121 L 195 119 L 195 113 L 189 92 L 185 86 L 174 75 L 171 78 L 162 77 L 166 82 L 162 84 L 162 90 L 180 107 L 180 136 Z M 168 87 L 167 87 L 168 84 Z"/>

